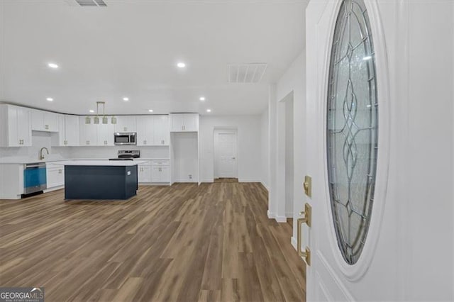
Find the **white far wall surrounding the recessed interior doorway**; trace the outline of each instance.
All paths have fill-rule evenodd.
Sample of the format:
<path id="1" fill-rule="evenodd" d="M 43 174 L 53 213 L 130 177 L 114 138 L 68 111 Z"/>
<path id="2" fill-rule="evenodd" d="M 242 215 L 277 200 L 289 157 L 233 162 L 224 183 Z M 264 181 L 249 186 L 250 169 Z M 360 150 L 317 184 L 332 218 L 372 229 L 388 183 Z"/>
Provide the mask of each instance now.
<path id="1" fill-rule="evenodd" d="M 214 181 L 214 128 L 236 128 L 238 133 L 238 181 L 260 182 L 261 116 L 200 116 L 200 174 L 202 182 Z"/>

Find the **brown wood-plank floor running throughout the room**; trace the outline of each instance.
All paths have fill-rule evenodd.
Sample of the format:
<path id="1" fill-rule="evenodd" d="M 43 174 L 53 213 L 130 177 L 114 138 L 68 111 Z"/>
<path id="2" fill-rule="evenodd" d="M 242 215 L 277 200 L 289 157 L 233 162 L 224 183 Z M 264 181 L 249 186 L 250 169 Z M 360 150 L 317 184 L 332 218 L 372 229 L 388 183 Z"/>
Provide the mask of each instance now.
<path id="1" fill-rule="evenodd" d="M 260 184 L 141 186 L 128 201 L 0 201 L 0 286 L 45 301 L 305 301 L 292 226 Z"/>

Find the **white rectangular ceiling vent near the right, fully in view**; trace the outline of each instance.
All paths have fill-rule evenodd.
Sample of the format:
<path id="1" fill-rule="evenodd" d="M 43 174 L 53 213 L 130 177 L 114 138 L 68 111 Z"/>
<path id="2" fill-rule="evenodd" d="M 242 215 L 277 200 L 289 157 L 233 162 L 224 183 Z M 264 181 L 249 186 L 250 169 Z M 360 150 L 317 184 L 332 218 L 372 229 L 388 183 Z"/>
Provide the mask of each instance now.
<path id="1" fill-rule="evenodd" d="M 248 83 L 260 82 L 267 69 L 266 63 L 246 63 L 228 65 L 229 83 Z"/>

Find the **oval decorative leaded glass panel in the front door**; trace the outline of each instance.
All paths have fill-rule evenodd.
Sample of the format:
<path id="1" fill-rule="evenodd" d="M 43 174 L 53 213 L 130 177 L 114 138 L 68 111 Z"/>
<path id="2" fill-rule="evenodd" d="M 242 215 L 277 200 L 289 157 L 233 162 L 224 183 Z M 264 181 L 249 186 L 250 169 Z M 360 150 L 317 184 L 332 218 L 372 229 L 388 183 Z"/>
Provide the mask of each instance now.
<path id="1" fill-rule="evenodd" d="M 362 0 L 344 0 L 328 82 L 328 181 L 338 246 L 348 264 L 362 252 L 374 201 L 378 147 L 375 54 Z"/>

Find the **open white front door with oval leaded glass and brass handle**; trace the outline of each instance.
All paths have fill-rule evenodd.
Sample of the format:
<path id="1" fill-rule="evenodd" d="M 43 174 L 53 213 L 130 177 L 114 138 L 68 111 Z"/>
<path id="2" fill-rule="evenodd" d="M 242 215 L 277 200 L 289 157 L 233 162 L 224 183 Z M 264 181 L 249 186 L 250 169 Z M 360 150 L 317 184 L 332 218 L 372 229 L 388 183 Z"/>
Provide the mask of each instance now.
<path id="1" fill-rule="evenodd" d="M 307 301 L 454 298 L 453 6 L 306 9 Z"/>

